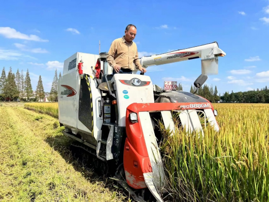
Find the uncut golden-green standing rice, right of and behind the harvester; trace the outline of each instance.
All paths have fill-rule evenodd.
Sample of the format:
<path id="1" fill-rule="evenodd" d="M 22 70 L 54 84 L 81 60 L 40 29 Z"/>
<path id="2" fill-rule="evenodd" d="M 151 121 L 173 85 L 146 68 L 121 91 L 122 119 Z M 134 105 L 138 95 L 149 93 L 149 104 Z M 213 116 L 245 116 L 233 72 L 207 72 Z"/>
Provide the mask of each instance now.
<path id="1" fill-rule="evenodd" d="M 204 138 L 176 128 L 163 132 L 160 148 L 169 201 L 268 201 L 269 104 L 213 103 L 220 131 Z M 57 114 L 56 103 L 26 108 Z M 175 120 L 176 121 L 176 120 Z"/>

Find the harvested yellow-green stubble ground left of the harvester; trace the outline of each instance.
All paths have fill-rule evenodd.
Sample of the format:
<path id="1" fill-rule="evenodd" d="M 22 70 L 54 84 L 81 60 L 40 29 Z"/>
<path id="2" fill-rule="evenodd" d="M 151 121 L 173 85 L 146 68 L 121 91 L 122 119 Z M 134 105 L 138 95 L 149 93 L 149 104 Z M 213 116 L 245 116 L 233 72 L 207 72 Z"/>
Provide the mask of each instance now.
<path id="1" fill-rule="evenodd" d="M 72 158 L 58 121 L 0 106 L 0 200 L 120 201 Z"/>

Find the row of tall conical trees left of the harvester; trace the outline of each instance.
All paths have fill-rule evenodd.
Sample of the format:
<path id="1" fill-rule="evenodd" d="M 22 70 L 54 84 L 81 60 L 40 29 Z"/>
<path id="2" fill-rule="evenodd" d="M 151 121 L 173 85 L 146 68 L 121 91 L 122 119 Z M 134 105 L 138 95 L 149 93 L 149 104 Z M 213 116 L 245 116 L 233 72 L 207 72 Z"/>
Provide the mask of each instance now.
<path id="1" fill-rule="evenodd" d="M 59 73 L 59 77 L 61 72 Z M 33 93 L 31 78 L 27 69 L 24 77 L 23 70 L 21 73 L 17 69 L 16 75 L 12 72 L 10 67 L 8 75 L 6 75 L 5 67 L 2 70 L 0 77 L 0 100 L 1 101 L 44 101 L 45 92 L 42 83 L 42 77 L 39 76 L 39 81 L 36 87 L 36 93 Z M 51 91 L 48 97 L 49 101 L 58 101 L 58 77 L 57 69 L 55 70 Z"/>

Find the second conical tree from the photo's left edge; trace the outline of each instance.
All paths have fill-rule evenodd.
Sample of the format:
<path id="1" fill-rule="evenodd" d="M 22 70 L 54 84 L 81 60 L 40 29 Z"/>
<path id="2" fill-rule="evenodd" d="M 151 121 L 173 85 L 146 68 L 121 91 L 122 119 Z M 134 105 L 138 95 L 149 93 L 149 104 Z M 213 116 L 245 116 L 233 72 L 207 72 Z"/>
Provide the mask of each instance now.
<path id="1" fill-rule="evenodd" d="M 13 100 L 15 97 L 19 96 L 19 91 L 17 89 L 15 74 L 12 73 L 12 68 L 10 67 L 9 74 L 7 77 L 7 83 L 5 85 L 6 97 Z"/>

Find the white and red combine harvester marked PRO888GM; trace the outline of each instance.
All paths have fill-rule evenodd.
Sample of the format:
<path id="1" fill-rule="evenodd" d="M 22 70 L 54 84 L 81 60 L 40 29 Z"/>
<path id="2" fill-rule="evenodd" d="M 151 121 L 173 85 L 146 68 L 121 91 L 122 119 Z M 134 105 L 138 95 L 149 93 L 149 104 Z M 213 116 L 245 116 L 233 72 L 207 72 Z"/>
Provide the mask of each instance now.
<path id="1" fill-rule="evenodd" d="M 194 81 L 197 91 L 208 75 L 218 74 L 219 56 L 225 54 L 214 42 L 143 56 L 140 63 L 147 68 L 200 58 L 201 75 Z M 95 77 L 94 69 L 98 58 L 104 71 L 100 79 Z M 218 131 L 217 111 L 195 94 L 163 91 L 143 73 L 113 76 L 106 59 L 107 52 L 77 52 L 64 61 L 63 75 L 58 80 L 58 115 L 60 125 L 65 127 L 63 134 L 77 140 L 74 147 L 90 153 L 95 167 L 121 184 L 133 199 L 163 201 L 165 176 L 156 120 L 173 131 L 172 111 L 182 111 L 181 125 L 203 132 L 200 112 Z"/>

